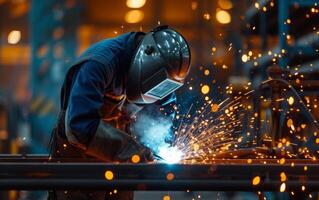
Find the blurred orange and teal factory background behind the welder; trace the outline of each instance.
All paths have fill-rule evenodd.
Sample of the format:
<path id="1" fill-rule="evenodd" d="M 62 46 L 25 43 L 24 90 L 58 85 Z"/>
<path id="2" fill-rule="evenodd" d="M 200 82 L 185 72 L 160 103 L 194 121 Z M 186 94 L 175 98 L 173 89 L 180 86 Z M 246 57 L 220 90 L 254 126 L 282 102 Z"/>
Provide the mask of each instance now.
<path id="1" fill-rule="evenodd" d="M 192 51 L 191 75 L 178 91 L 181 107 L 194 100 L 221 102 L 244 85 L 258 88 L 281 69 L 279 77 L 290 81 L 319 117 L 318 4 L 318 0 L 0 0 L 0 153 L 48 152 L 64 75 L 87 47 L 164 24 L 181 32 Z M 180 194 L 176 199 L 205 195 Z M 207 195 L 257 199 L 253 193 Z M 23 194 L 7 197 L 23 199 Z M 273 194 L 269 198 L 283 199 Z"/>

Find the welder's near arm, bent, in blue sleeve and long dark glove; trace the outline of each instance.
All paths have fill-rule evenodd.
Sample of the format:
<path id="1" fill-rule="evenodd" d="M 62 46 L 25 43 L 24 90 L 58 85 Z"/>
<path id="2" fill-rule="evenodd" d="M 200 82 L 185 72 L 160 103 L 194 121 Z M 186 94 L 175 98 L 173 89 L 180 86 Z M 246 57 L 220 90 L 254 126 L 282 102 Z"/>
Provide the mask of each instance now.
<path id="1" fill-rule="evenodd" d="M 68 141 L 86 154 L 107 161 L 127 161 L 134 154 L 147 160 L 151 153 L 127 133 L 101 118 L 104 91 L 114 76 L 111 68 L 95 61 L 81 66 L 73 81 L 66 112 Z"/>

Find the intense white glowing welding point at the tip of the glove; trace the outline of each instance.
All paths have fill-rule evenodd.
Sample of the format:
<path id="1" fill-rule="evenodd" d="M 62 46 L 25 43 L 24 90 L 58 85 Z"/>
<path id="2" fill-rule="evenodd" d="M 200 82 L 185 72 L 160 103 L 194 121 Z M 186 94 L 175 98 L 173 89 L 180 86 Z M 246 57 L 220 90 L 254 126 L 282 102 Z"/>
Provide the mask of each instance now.
<path id="1" fill-rule="evenodd" d="M 173 164 L 182 160 L 183 153 L 177 147 L 160 147 L 158 155 L 162 157 L 164 162 Z"/>

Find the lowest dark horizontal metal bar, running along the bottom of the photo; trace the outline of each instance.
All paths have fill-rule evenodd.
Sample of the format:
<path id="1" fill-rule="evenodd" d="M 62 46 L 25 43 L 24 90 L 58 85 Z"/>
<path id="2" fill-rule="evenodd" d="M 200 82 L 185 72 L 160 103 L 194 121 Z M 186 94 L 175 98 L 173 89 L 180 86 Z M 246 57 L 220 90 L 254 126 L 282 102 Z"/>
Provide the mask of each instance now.
<path id="1" fill-rule="evenodd" d="M 19 184 L 16 187 L 17 183 Z M 182 180 L 182 181 L 158 181 L 158 180 L 134 180 L 134 181 L 112 181 L 107 182 L 103 180 L 19 180 L 12 181 L 0 180 L 1 189 L 17 189 L 17 190 L 148 190 L 148 191 L 279 191 L 281 185 L 280 181 L 266 180 L 260 186 L 255 187 L 251 185 L 249 180 Z M 307 191 L 318 191 L 318 181 L 307 181 L 302 183 L 300 181 L 288 181 L 286 183 L 286 191 L 289 190 L 301 190 L 301 187 L 305 186 Z"/>

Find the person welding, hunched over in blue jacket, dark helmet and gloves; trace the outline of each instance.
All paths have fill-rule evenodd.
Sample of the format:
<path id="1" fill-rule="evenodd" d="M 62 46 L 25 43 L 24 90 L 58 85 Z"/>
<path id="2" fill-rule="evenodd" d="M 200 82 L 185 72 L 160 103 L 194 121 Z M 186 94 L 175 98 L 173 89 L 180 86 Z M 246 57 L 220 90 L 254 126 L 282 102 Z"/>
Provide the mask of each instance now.
<path id="1" fill-rule="evenodd" d="M 53 130 L 53 158 L 151 161 L 129 125 L 145 107 L 171 107 L 189 72 L 190 49 L 168 26 L 130 32 L 89 47 L 70 67 Z M 132 199 L 130 192 L 50 191 L 49 199 Z"/>

